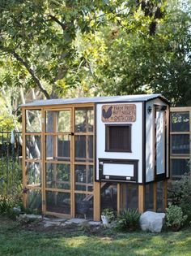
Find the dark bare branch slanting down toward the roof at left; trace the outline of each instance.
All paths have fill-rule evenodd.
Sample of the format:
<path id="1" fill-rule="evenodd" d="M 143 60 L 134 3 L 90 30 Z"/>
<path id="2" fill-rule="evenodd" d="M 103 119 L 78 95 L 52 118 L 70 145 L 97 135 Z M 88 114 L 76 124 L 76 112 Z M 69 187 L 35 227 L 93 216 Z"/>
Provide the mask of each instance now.
<path id="1" fill-rule="evenodd" d="M 32 79 L 35 81 L 36 85 L 37 85 L 38 88 L 40 89 L 40 91 L 41 91 L 42 93 L 44 93 L 44 95 L 45 95 L 45 97 L 46 97 L 47 99 L 49 99 L 49 98 L 50 98 L 50 97 L 49 97 L 49 93 L 45 90 L 45 88 L 43 87 L 43 85 L 41 85 L 40 80 L 39 80 L 38 77 L 35 75 L 35 72 L 32 70 L 32 68 L 29 67 L 28 63 L 27 63 L 23 58 L 21 58 L 21 57 L 19 56 L 19 54 L 17 54 L 17 53 L 15 52 L 15 50 L 9 51 L 9 53 L 12 54 L 12 55 L 15 57 L 15 59 L 17 59 L 17 60 L 19 61 L 19 63 L 22 63 L 23 66 L 26 67 L 26 69 L 28 70 L 28 72 L 29 72 L 30 75 L 32 76 Z"/>

